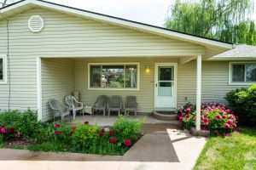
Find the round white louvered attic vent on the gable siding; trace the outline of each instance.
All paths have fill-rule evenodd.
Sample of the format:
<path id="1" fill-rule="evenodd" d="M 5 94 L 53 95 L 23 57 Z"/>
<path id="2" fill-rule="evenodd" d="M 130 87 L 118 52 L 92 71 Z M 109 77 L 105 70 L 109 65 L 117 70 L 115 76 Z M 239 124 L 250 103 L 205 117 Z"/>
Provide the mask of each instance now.
<path id="1" fill-rule="evenodd" d="M 28 28 L 32 32 L 42 31 L 44 28 L 44 20 L 39 15 L 32 15 L 28 20 Z"/>

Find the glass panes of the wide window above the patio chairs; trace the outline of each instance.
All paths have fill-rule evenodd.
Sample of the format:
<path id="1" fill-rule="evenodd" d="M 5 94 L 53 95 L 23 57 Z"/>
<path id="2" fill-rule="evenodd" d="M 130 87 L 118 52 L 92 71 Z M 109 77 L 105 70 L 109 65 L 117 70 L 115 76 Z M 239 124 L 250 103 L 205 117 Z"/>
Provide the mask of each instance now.
<path id="1" fill-rule="evenodd" d="M 138 89 L 138 64 L 89 64 L 89 87 Z"/>

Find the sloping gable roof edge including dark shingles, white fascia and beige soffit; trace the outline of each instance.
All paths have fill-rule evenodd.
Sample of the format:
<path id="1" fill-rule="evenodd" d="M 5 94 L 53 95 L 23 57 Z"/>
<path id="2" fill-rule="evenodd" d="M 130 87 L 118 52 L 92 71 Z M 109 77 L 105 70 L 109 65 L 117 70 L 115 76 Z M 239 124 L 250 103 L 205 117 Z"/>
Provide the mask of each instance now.
<path id="1" fill-rule="evenodd" d="M 159 26 L 151 26 L 137 21 L 125 20 L 106 14 L 99 14 L 84 9 L 68 7 L 57 3 L 46 2 L 43 0 L 21 0 L 17 3 L 12 3 L 9 6 L 0 8 L 0 13 L 3 14 L 5 17 L 11 17 L 15 14 L 19 14 L 21 12 L 26 11 L 29 8 L 34 8 L 36 6 L 50 8 L 56 11 L 60 11 L 62 13 L 64 12 L 67 14 L 74 14 L 80 17 L 84 17 L 91 20 L 98 20 L 112 25 L 123 26 L 137 31 L 144 31 L 164 37 L 175 38 L 187 42 L 194 42 L 197 44 L 201 44 L 203 46 L 210 46 L 210 48 L 219 48 L 221 52 L 233 48 L 233 44 L 229 42 L 222 42 L 207 37 L 198 37 L 180 31 L 173 31 Z"/>

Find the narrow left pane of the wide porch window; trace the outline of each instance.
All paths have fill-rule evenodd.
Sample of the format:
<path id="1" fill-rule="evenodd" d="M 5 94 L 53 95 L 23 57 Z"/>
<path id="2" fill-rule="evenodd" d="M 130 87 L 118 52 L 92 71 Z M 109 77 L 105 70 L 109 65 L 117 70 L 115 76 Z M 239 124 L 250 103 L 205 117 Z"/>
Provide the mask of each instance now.
<path id="1" fill-rule="evenodd" d="M 101 87 L 101 65 L 90 66 L 90 88 Z M 103 80 L 102 80 L 103 83 Z"/>

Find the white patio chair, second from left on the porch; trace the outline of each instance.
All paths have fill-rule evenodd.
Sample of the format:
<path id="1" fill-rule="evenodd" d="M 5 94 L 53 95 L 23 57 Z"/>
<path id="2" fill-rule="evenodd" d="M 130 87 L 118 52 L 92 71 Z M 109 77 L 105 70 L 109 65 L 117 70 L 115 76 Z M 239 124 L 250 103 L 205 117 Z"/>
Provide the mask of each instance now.
<path id="1" fill-rule="evenodd" d="M 79 102 L 71 95 L 65 97 L 65 102 L 69 108 L 69 111 L 73 111 L 73 120 L 76 118 L 77 111 L 83 111 L 84 116 L 84 106 L 82 102 Z"/>

